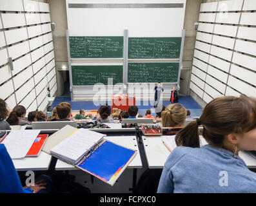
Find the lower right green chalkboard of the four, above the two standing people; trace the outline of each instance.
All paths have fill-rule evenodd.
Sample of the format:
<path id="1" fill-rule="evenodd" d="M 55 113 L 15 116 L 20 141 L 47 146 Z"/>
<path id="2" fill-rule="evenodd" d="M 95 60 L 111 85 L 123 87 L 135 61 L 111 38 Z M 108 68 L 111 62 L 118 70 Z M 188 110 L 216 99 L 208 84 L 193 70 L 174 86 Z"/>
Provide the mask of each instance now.
<path id="1" fill-rule="evenodd" d="M 177 82 L 178 62 L 128 63 L 128 82 Z"/>

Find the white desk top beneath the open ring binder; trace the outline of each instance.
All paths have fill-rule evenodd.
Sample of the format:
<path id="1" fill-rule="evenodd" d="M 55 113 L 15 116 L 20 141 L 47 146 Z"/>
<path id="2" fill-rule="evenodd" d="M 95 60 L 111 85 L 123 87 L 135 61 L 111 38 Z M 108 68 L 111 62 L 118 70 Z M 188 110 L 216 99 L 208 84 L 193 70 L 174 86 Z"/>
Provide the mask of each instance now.
<path id="1" fill-rule="evenodd" d="M 133 158 L 132 162 L 130 162 L 127 168 L 133 169 L 133 168 L 143 167 L 143 164 L 141 162 L 141 155 L 139 154 L 139 147 L 138 147 L 135 136 L 106 136 L 105 139 L 115 144 L 119 144 L 124 147 L 137 150 L 136 156 Z M 57 163 L 55 165 L 55 170 L 76 170 L 76 169 L 78 168 L 66 162 L 63 162 L 61 160 L 57 160 Z"/>

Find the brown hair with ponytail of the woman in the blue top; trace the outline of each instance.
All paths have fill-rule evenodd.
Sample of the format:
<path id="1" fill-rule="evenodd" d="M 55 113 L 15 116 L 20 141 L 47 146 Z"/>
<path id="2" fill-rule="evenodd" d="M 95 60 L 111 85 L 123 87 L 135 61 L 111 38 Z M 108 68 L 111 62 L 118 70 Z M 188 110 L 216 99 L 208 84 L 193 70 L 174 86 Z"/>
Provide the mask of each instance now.
<path id="1" fill-rule="evenodd" d="M 213 99 L 203 109 L 199 119 L 177 133 L 176 144 L 200 147 L 199 125 L 203 127 L 202 136 L 208 144 L 222 147 L 226 135 L 246 133 L 256 128 L 256 100 L 245 95 Z"/>

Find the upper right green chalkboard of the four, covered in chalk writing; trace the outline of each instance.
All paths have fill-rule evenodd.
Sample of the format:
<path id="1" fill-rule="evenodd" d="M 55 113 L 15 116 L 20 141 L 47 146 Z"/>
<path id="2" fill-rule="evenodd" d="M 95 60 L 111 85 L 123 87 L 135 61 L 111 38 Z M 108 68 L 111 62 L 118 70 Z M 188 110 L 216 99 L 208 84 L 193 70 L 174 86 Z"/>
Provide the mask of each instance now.
<path id="1" fill-rule="evenodd" d="M 181 37 L 130 37 L 128 59 L 179 59 Z"/>

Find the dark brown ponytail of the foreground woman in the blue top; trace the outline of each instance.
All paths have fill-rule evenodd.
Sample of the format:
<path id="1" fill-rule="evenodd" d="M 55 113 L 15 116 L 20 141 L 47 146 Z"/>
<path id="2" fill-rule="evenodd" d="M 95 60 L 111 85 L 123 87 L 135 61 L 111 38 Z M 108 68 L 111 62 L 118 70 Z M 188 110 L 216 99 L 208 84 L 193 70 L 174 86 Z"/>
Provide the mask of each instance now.
<path id="1" fill-rule="evenodd" d="M 181 131 L 179 131 L 175 136 L 176 144 L 184 147 L 200 147 L 198 133 L 198 127 L 200 124 L 201 122 L 197 119 L 181 129 Z"/>

